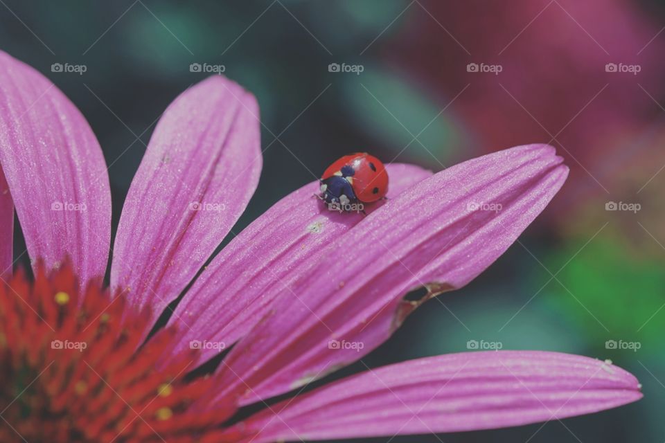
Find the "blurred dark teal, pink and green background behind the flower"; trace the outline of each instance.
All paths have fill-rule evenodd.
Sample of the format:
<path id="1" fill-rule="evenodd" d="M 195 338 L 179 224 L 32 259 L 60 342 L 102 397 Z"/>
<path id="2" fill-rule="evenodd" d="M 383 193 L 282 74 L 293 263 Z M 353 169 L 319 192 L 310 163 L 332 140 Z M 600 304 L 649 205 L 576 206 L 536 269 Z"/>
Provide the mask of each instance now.
<path id="1" fill-rule="evenodd" d="M 644 399 L 563 422 L 390 441 L 665 440 L 665 3 L 0 3 L 1 49 L 53 80 L 98 136 L 114 229 L 161 112 L 218 72 L 256 95 L 263 120 L 263 175 L 235 232 L 348 152 L 438 171 L 513 145 L 556 146 L 569 180 L 520 242 L 364 361 L 571 352 L 630 370 Z"/>

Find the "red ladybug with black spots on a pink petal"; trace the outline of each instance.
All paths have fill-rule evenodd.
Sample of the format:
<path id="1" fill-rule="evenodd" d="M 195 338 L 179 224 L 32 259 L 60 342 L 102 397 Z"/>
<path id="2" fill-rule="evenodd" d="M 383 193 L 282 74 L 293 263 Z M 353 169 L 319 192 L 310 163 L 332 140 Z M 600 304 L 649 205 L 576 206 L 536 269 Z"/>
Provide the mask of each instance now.
<path id="1" fill-rule="evenodd" d="M 388 172 L 382 161 L 366 152 L 345 155 L 328 166 L 321 176 L 319 198 L 339 210 L 372 203 L 386 196 Z"/>

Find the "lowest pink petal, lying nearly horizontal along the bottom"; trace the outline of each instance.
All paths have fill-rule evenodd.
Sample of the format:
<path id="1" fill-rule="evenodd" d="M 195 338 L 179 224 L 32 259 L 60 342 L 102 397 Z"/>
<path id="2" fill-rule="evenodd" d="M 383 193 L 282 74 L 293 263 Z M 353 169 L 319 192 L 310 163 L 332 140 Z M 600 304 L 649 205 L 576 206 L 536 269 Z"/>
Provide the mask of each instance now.
<path id="1" fill-rule="evenodd" d="M 503 428 L 615 408 L 640 399 L 639 389 L 629 372 L 583 356 L 465 352 L 347 377 L 238 429 L 258 443 Z"/>

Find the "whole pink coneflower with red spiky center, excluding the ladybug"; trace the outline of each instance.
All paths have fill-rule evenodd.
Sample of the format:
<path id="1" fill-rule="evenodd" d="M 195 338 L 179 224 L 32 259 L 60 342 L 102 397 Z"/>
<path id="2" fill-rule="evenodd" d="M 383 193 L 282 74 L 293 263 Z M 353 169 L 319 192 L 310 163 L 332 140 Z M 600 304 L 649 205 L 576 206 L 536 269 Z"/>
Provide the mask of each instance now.
<path id="1" fill-rule="evenodd" d="M 427 298 L 484 271 L 565 181 L 567 168 L 547 145 L 434 175 L 388 165 L 389 199 L 366 217 L 329 212 L 312 198 L 317 183 L 308 183 L 237 235 L 186 292 L 170 326 L 141 347 L 256 188 L 253 96 L 215 76 L 166 109 L 121 215 L 114 298 L 99 283 L 111 199 L 98 142 L 51 82 L 6 54 L 0 163 L 0 269 L 11 274 L 15 206 L 36 275 L 29 284 L 17 273 L 0 290 L 0 398 L 12 406 L 0 414 L 10 426 L 0 428 L 2 441 L 26 433 L 56 442 L 265 442 L 463 431 L 641 397 L 635 377 L 611 363 L 468 352 L 369 370 L 233 419 L 242 406 L 360 359 Z M 403 300 L 423 285 L 422 300 Z M 185 377 L 234 343 L 211 377 Z M 14 398 L 25 368 L 34 380 Z"/>

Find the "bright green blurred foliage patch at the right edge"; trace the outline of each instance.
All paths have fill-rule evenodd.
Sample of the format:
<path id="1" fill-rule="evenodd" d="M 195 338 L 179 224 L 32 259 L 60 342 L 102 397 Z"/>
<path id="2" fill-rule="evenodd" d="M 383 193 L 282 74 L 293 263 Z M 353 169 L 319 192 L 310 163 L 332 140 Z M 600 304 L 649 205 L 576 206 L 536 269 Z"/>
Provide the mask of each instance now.
<path id="1" fill-rule="evenodd" d="M 564 267 L 556 277 L 560 282 L 551 282 L 544 291 L 545 298 L 593 346 L 637 341 L 640 355 L 662 358 L 665 263 L 631 253 L 616 234 L 608 228 L 588 244 L 580 238 L 550 251 L 545 264 L 553 270 Z M 608 350 L 610 356 L 626 352 L 630 350 Z"/>

